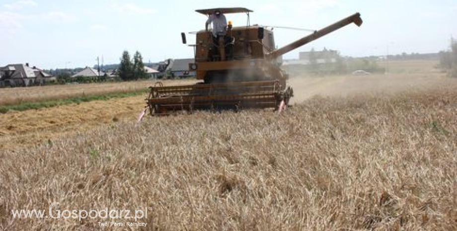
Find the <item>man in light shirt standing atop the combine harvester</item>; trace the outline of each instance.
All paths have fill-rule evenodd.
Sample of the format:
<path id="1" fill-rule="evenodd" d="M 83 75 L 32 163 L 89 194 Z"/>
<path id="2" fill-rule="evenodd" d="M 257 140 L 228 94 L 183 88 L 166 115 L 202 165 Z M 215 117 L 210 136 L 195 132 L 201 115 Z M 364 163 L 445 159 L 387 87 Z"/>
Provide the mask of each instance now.
<path id="1" fill-rule="evenodd" d="M 226 16 L 221 12 L 221 10 L 215 10 L 214 14 L 211 14 L 208 17 L 208 20 L 205 24 L 205 30 L 208 31 L 208 25 L 213 23 L 213 48 L 212 48 L 212 61 L 219 61 L 221 57 L 218 57 L 219 54 L 219 46 L 224 46 L 225 54 L 227 56 L 227 60 L 231 60 L 232 57 L 232 46 L 233 46 L 233 37 L 230 37 L 227 34 L 227 28 L 231 27 L 231 23 L 227 24 Z M 221 55 L 221 54 L 219 54 Z"/>

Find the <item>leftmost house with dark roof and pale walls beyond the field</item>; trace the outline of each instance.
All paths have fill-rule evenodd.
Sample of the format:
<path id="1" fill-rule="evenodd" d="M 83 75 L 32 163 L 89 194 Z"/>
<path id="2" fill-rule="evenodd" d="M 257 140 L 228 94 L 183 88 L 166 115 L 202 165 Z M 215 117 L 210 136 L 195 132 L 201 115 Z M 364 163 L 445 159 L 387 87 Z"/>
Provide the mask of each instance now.
<path id="1" fill-rule="evenodd" d="M 30 67 L 28 63 L 9 64 L 0 68 L 0 86 L 33 86 L 43 85 L 56 81 L 53 77 L 43 70 Z"/>

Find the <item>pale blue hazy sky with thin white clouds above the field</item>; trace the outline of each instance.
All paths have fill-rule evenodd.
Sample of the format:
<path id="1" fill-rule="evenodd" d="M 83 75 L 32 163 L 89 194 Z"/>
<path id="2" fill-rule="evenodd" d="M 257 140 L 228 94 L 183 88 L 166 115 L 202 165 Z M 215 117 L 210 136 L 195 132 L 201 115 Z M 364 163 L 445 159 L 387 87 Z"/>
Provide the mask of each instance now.
<path id="1" fill-rule="evenodd" d="M 0 0 L 0 67 L 29 63 L 41 69 L 119 63 L 122 52 L 139 51 L 145 63 L 191 58 L 181 32 L 205 28 L 195 9 L 246 7 L 250 23 L 277 26 L 278 47 L 360 12 L 363 25 L 335 31 L 284 55 L 337 50 L 343 56 L 436 53 L 457 38 L 457 0 Z M 245 14 L 228 14 L 234 26 Z M 195 35 L 187 34 L 188 43 Z"/>

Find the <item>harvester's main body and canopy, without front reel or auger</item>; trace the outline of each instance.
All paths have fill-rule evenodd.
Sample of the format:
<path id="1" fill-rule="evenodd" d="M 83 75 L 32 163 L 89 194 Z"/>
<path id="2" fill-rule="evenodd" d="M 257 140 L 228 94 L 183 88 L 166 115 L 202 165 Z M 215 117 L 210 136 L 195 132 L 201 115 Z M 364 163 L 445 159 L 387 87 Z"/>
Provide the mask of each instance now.
<path id="1" fill-rule="evenodd" d="M 286 87 L 286 78 L 280 72 L 276 59 L 266 59 L 275 50 L 273 32 L 259 25 L 249 24 L 247 8 L 198 9 L 211 18 L 215 12 L 222 15 L 246 13 L 246 25 L 233 26 L 229 21 L 225 31 L 200 30 L 196 34 L 195 63 L 197 79 L 205 83 L 233 83 L 245 81 L 280 80 Z"/>

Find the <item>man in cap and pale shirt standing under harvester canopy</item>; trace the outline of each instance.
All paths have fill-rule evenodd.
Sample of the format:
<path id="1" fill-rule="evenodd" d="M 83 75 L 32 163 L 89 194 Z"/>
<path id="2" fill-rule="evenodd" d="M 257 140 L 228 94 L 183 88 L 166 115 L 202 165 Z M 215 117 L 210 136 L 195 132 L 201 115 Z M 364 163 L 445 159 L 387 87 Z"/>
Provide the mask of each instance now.
<path id="1" fill-rule="evenodd" d="M 226 16 L 223 13 L 221 13 L 220 10 L 215 10 L 214 14 L 211 14 L 208 17 L 208 20 L 206 21 L 206 24 L 205 24 L 206 31 L 208 31 L 208 25 L 210 23 L 213 23 L 213 30 L 212 30 L 213 43 L 214 43 L 213 55 L 217 55 L 219 53 L 219 51 L 218 51 L 219 38 L 223 37 L 224 44 L 227 46 L 226 52 L 228 52 L 228 56 L 231 56 L 231 51 L 232 51 L 231 45 L 233 42 L 233 38 L 230 36 L 227 36 Z"/>

